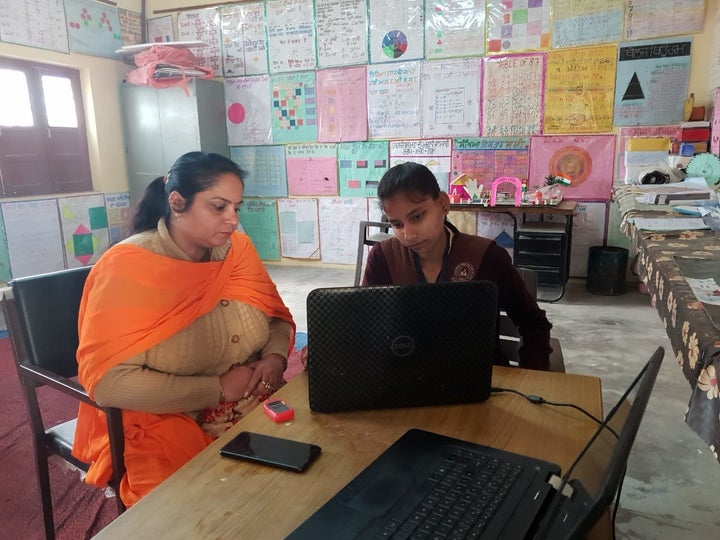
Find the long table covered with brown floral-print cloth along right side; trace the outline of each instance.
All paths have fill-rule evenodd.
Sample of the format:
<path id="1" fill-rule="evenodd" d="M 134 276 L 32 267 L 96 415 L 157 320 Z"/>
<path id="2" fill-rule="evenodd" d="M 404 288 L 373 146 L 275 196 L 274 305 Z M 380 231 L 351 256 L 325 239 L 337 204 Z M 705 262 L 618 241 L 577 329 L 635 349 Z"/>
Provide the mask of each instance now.
<path id="1" fill-rule="evenodd" d="M 682 219 L 666 205 L 637 201 L 649 189 L 618 186 L 620 227 L 637 251 L 635 270 L 647 286 L 692 394 L 685 422 L 720 460 L 720 234 L 712 229 L 649 231 L 634 218 Z M 670 188 L 671 189 L 671 188 Z M 715 227 L 714 227 L 715 228 Z"/>

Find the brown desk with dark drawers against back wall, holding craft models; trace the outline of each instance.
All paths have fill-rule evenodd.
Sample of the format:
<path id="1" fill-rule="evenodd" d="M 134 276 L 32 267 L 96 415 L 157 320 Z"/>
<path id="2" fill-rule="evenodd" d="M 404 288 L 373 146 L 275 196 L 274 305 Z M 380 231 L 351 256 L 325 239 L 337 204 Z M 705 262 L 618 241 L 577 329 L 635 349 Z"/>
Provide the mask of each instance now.
<path id="1" fill-rule="evenodd" d="M 451 204 L 452 212 L 482 212 L 506 214 L 513 220 L 513 262 L 517 267 L 530 268 L 538 274 L 538 285 L 550 285 L 559 289 L 556 296 L 538 300 L 555 302 L 565 294 L 570 277 L 570 254 L 572 251 L 572 227 L 575 201 L 561 201 L 551 205 L 499 205 L 458 203 Z M 528 216 L 539 216 L 540 221 L 528 220 Z M 560 222 L 543 221 L 544 216 L 556 216 Z M 540 250 L 538 252 L 538 250 Z M 545 251 L 546 252 L 543 252 Z"/>

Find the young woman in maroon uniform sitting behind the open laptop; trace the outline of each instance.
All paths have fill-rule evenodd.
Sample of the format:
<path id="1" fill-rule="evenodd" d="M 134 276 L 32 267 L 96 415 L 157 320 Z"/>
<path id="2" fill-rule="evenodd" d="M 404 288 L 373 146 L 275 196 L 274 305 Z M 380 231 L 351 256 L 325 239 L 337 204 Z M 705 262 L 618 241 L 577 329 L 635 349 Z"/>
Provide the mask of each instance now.
<path id="1" fill-rule="evenodd" d="M 450 199 L 430 169 L 412 162 L 396 165 L 383 175 L 377 193 L 395 236 L 372 247 L 362 284 L 493 281 L 500 309 L 522 336 L 520 367 L 547 370 L 552 325 L 545 311 L 507 251 L 489 238 L 458 231 L 447 220 Z M 499 350 L 495 363 L 507 364 Z"/>

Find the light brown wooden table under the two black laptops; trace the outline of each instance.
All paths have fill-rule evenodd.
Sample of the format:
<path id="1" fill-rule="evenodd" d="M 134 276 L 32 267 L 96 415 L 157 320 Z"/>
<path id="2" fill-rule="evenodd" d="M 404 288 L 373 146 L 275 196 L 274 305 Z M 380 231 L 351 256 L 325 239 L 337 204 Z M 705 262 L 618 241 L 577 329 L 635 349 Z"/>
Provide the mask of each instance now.
<path id="1" fill-rule="evenodd" d="M 496 367 L 493 385 L 602 415 L 595 377 Z M 274 424 L 254 410 L 95 538 L 283 538 L 410 427 L 529 454 L 563 470 L 596 428 L 579 411 L 511 393 L 479 404 L 319 414 L 308 408 L 302 373 L 276 396 L 295 408 L 292 423 Z M 322 454 L 304 473 L 221 457 L 220 447 L 242 430 L 313 442 Z M 608 538 L 608 521 L 598 525 L 596 537 Z"/>

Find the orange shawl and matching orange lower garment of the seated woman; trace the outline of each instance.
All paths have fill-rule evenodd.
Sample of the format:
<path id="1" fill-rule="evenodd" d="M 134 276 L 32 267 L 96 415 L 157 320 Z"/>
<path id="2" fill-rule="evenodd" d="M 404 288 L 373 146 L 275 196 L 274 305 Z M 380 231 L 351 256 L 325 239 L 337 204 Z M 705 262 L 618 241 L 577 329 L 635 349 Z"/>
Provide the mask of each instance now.
<path id="1" fill-rule="evenodd" d="M 105 253 L 85 284 L 78 319 L 79 381 L 93 396 L 112 367 L 157 345 L 209 313 L 221 299 L 252 305 L 293 325 L 292 316 L 250 239 L 231 237 L 225 259 L 181 261 L 132 244 Z M 290 350 L 292 350 L 292 340 Z M 123 410 L 125 465 L 120 496 L 137 502 L 210 442 L 185 414 Z M 91 463 L 85 481 L 107 485 L 112 474 L 105 414 L 81 404 L 73 455 Z"/>

